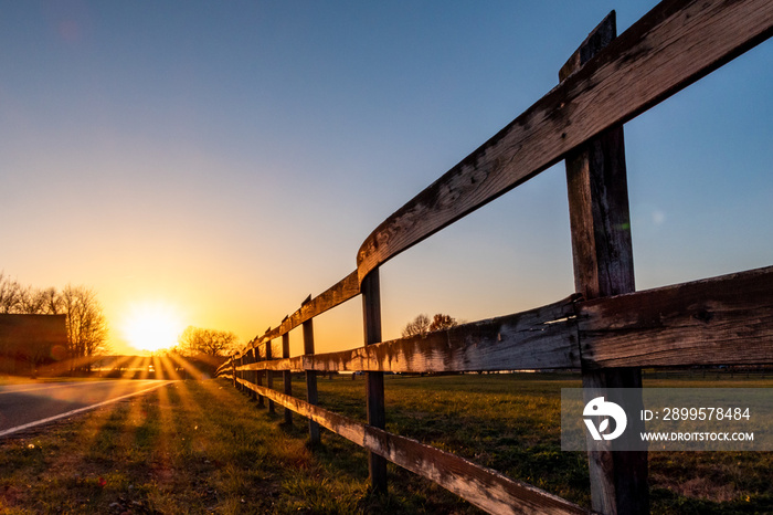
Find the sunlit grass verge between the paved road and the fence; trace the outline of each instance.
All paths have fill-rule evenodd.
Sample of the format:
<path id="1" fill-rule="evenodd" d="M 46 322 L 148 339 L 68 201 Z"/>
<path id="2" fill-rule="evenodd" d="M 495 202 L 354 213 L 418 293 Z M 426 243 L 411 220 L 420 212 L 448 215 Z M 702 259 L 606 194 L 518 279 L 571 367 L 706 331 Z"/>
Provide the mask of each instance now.
<path id="1" fill-rule="evenodd" d="M 277 412 L 226 381 L 180 381 L 2 440 L 0 513 L 465 513 L 405 472 L 370 495 L 361 449 L 327 433 L 310 450 Z"/>

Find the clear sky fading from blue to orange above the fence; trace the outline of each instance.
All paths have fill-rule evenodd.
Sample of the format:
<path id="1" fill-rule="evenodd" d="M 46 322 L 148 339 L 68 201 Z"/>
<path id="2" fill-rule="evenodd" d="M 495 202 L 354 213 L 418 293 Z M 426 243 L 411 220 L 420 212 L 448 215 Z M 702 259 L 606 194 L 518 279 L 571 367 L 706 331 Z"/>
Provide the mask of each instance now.
<path id="1" fill-rule="evenodd" d="M 0 270 L 244 340 L 650 1 L 0 1 Z M 639 288 L 773 264 L 773 43 L 626 125 Z M 382 270 L 384 337 L 573 291 L 563 165 Z M 153 304 L 155 303 L 155 304 Z M 320 347 L 362 343 L 353 301 Z M 293 336 L 297 347 L 299 337 Z"/>

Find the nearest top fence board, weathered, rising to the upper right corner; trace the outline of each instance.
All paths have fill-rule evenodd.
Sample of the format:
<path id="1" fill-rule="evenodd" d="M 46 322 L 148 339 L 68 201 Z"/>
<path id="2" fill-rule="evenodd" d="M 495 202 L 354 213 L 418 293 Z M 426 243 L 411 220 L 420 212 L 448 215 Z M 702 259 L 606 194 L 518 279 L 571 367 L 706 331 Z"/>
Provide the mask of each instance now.
<path id="1" fill-rule="evenodd" d="M 358 252 L 359 281 L 772 33 L 770 0 L 661 2 L 381 223 Z"/>

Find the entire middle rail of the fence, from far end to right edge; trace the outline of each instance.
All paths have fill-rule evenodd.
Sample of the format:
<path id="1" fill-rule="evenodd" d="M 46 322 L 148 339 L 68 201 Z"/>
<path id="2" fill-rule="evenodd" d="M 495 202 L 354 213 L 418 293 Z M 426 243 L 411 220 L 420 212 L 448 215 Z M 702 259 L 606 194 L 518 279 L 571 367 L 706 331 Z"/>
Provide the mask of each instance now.
<path id="1" fill-rule="evenodd" d="M 773 362 L 773 266 L 593 301 L 573 295 L 426 337 L 239 370 L 441 372 L 578 368 L 581 361 L 591 368 Z M 231 365 L 223 374 L 233 374 Z"/>

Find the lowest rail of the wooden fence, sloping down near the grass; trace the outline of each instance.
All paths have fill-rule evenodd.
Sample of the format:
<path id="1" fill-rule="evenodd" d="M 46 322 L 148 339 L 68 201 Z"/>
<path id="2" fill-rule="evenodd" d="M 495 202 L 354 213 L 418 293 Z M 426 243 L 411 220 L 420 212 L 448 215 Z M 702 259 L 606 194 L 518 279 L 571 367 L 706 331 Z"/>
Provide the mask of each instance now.
<path id="1" fill-rule="evenodd" d="M 425 445 L 416 440 L 389 433 L 300 399 L 244 381 L 244 387 L 314 420 L 347 440 L 411 472 L 434 481 L 467 502 L 496 514 L 580 514 L 582 507 L 527 483 Z"/>

